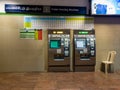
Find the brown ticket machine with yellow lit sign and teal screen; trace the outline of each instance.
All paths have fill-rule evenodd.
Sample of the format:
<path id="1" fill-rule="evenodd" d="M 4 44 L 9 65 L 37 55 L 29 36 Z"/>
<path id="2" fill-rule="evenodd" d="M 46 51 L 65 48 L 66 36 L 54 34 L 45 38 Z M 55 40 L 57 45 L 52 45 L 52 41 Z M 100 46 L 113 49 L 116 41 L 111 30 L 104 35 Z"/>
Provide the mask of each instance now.
<path id="1" fill-rule="evenodd" d="M 70 71 L 70 30 L 48 30 L 48 71 Z"/>

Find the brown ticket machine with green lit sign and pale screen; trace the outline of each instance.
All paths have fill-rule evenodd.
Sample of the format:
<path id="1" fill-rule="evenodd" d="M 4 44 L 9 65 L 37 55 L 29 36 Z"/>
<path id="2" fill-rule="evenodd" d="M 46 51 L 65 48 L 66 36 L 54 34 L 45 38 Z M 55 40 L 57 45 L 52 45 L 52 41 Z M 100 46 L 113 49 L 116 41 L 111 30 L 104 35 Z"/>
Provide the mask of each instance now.
<path id="1" fill-rule="evenodd" d="M 74 30 L 74 71 L 95 71 L 94 30 Z"/>

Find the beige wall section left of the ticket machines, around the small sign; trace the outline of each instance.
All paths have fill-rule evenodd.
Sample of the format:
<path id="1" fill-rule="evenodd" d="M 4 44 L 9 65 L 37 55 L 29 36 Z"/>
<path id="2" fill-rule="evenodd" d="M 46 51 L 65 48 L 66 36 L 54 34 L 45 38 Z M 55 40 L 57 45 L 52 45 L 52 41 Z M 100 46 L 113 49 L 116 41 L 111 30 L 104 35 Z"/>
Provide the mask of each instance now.
<path id="1" fill-rule="evenodd" d="M 45 38 L 20 39 L 23 25 L 23 16 L 0 16 L 0 72 L 45 70 Z"/>

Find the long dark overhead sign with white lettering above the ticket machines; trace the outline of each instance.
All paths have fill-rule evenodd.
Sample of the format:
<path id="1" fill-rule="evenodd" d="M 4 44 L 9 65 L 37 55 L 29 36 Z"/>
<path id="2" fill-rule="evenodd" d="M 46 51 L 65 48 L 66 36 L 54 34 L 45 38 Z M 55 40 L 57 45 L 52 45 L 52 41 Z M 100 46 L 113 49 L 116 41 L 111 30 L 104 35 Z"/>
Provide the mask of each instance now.
<path id="1" fill-rule="evenodd" d="M 26 14 L 87 14 L 86 7 L 74 6 L 40 6 L 5 4 L 6 13 Z"/>

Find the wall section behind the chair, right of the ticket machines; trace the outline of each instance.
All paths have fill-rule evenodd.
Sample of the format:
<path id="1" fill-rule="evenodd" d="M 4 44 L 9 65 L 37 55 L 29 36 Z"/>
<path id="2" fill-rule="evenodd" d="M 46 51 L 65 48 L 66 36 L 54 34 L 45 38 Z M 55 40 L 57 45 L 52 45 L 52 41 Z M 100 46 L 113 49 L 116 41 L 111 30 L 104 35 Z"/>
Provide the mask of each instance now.
<path id="1" fill-rule="evenodd" d="M 120 18 L 119 17 L 95 17 L 96 31 L 96 71 L 100 69 L 101 61 L 106 60 L 110 50 L 116 50 L 115 71 L 120 70 Z"/>

